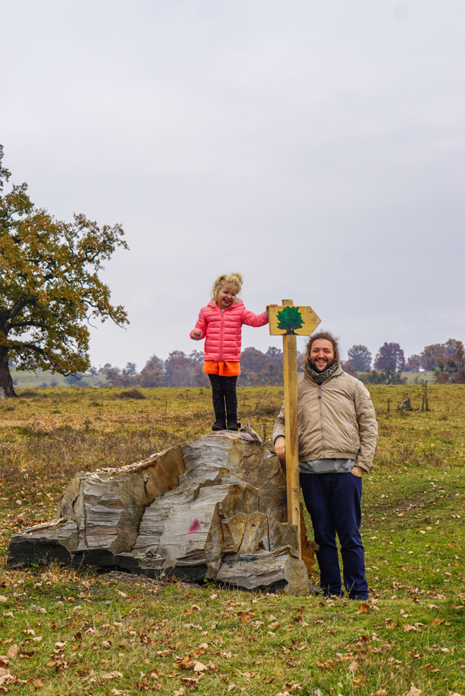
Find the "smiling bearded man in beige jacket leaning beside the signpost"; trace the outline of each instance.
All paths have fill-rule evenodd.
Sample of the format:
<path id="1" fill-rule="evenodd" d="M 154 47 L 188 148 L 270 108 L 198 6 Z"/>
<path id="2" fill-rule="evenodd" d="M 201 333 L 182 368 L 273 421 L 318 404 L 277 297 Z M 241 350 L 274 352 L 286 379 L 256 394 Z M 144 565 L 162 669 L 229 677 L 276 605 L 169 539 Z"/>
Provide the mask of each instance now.
<path id="1" fill-rule="evenodd" d="M 320 331 L 307 343 L 297 379 L 299 474 L 320 546 L 320 587 L 342 596 L 336 532 L 349 599 L 368 599 L 361 542 L 362 475 L 375 454 L 378 427 L 370 394 L 342 370 L 336 339 Z M 274 450 L 285 461 L 284 405 L 274 424 Z"/>

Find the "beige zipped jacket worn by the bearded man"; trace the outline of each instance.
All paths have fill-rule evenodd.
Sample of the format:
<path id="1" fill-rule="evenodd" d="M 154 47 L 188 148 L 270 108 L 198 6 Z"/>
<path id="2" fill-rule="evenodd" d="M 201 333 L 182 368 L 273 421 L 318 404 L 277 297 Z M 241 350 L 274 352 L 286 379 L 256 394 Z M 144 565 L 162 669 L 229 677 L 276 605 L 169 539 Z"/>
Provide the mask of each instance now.
<path id="1" fill-rule="evenodd" d="M 370 393 L 339 367 L 321 385 L 302 367 L 297 379 L 299 461 L 355 459 L 369 471 L 378 436 Z M 273 441 L 285 436 L 284 404 L 274 424 Z"/>

